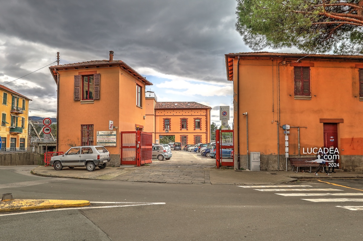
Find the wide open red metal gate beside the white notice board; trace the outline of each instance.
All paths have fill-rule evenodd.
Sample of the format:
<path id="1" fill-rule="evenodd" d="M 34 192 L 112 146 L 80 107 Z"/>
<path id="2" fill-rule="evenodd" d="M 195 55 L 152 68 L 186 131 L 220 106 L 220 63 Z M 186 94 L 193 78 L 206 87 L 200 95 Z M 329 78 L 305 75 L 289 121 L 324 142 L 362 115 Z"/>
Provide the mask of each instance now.
<path id="1" fill-rule="evenodd" d="M 141 166 L 151 163 L 152 134 L 140 130 L 120 132 L 121 165 Z"/>

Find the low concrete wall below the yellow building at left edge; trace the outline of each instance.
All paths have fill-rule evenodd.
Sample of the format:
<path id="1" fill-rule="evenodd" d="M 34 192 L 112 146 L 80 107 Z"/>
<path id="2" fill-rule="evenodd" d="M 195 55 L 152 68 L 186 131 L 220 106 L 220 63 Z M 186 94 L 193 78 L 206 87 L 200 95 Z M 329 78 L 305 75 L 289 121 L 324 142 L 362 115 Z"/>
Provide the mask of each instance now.
<path id="1" fill-rule="evenodd" d="M 43 165 L 44 155 L 34 152 L 1 153 L 0 166 Z"/>

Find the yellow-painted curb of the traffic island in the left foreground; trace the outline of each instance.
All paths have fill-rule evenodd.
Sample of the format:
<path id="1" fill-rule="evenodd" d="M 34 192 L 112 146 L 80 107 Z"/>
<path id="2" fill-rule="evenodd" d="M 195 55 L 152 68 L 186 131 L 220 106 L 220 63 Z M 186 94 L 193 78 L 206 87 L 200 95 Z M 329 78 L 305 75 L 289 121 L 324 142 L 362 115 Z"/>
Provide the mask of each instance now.
<path id="1" fill-rule="evenodd" d="M 90 205 L 87 200 L 46 200 L 46 199 L 14 199 L 0 201 L 0 212 L 11 212 L 43 208 L 84 207 Z"/>

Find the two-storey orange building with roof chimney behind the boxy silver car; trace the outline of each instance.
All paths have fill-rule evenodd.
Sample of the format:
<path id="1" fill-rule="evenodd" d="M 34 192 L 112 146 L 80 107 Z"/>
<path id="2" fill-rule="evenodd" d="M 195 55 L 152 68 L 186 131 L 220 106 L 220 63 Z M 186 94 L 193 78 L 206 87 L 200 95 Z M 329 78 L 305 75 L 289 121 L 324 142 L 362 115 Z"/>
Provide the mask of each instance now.
<path id="1" fill-rule="evenodd" d="M 113 51 L 109 56 L 49 69 L 58 94 L 57 151 L 104 145 L 111 154 L 110 165 L 119 165 L 119 132 L 143 130 L 145 86 L 152 83 L 125 62 L 113 60 Z"/>

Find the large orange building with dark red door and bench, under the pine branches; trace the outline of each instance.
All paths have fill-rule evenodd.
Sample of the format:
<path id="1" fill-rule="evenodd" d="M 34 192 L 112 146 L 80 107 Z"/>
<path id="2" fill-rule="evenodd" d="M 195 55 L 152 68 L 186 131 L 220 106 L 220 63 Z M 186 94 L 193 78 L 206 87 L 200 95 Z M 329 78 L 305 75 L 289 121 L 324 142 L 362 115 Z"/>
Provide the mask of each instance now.
<path id="1" fill-rule="evenodd" d="M 256 52 L 225 61 L 236 169 L 250 169 L 250 153 L 260 152 L 260 170 L 286 170 L 287 156 L 333 145 L 339 169 L 363 171 L 363 56 Z"/>

